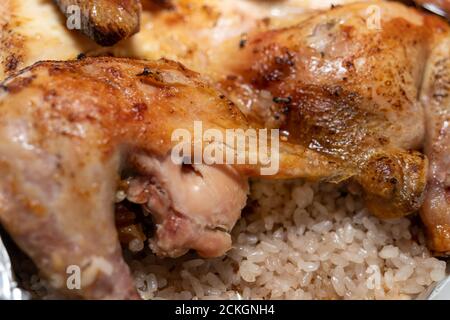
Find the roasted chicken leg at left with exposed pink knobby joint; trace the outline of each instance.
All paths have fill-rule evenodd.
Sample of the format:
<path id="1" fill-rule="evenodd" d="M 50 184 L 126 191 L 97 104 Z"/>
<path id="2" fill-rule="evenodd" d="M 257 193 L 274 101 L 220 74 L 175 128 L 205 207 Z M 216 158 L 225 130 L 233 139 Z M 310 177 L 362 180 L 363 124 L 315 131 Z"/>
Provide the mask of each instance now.
<path id="1" fill-rule="evenodd" d="M 175 129 L 191 131 L 195 120 L 205 129 L 248 124 L 196 73 L 165 60 L 41 62 L 2 84 L 0 114 L 0 222 L 56 288 L 84 298 L 136 296 L 114 225 L 121 171 L 151 182 L 135 201 L 153 214 L 152 249 L 205 257 L 231 247 L 246 177 L 260 174 L 258 164 L 185 170 L 172 162 Z M 279 175 L 335 170 L 313 160 L 283 144 Z M 67 290 L 70 265 L 82 269 L 81 290 Z"/>

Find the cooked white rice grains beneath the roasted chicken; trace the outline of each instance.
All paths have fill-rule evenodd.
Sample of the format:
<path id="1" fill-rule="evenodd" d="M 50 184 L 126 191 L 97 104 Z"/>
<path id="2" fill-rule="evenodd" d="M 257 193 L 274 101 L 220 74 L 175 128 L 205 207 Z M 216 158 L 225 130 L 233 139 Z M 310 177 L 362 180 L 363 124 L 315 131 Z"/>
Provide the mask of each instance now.
<path id="1" fill-rule="evenodd" d="M 144 299 L 411 299 L 446 276 L 410 219 L 380 221 L 354 188 L 295 180 L 251 189 L 225 257 L 130 261 Z"/>

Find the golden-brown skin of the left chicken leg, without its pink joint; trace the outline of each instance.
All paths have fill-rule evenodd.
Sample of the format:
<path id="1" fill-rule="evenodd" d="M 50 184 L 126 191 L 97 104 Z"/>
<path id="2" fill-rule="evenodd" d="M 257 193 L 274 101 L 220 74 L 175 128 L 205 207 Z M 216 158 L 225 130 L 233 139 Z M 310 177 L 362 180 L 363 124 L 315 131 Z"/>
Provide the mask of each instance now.
<path id="1" fill-rule="evenodd" d="M 47 277 L 60 280 L 58 289 L 84 298 L 135 297 L 112 208 L 129 155 L 166 157 L 178 143 L 174 130 L 192 132 L 194 121 L 204 130 L 249 128 L 220 92 L 167 60 L 44 61 L 0 90 L 0 221 Z M 298 146 L 282 144 L 280 152 L 279 176 L 339 172 Z M 236 169 L 257 176 L 260 166 Z M 212 255 L 219 243 L 193 245 Z M 94 272 L 81 291 L 65 290 L 69 265 Z"/>

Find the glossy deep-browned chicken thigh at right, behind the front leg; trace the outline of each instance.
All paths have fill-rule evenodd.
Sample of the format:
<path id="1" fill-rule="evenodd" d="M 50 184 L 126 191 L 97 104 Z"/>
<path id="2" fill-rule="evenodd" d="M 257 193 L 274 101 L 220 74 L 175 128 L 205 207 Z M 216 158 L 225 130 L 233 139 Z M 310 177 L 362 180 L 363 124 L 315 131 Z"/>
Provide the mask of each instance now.
<path id="1" fill-rule="evenodd" d="M 379 29 L 366 9 L 380 8 Z M 371 211 L 383 218 L 417 211 L 427 160 L 418 101 L 429 50 L 448 26 L 399 4 L 337 7 L 296 26 L 238 40 L 221 88 L 257 123 L 326 155 L 360 182 Z"/>

